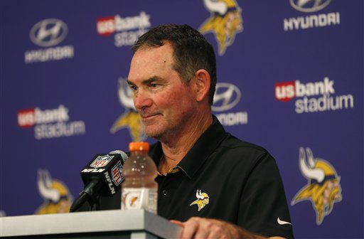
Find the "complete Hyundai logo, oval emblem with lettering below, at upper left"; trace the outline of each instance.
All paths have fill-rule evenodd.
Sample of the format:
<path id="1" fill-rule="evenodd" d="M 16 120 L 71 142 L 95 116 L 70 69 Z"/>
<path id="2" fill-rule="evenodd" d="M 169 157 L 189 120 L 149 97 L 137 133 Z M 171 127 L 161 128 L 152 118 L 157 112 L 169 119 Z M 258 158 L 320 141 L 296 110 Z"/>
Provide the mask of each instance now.
<path id="1" fill-rule="evenodd" d="M 68 26 L 60 19 L 48 18 L 36 23 L 31 28 L 29 37 L 36 46 L 42 48 L 26 51 L 25 63 L 73 58 L 73 46 L 56 46 L 66 38 L 67 34 Z"/>

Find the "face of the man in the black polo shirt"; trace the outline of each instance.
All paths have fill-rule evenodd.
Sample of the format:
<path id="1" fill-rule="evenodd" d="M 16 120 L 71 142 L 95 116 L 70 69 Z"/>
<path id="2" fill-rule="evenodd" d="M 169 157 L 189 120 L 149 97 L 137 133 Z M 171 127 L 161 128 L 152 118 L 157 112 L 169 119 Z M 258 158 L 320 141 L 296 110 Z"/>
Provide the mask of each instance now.
<path id="1" fill-rule="evenodd" d="M 173 70 L 169 43 L 140 48 L 132 58 L 128 83 L 147 136 L 159 140 L 178 137 L 188 127 L 196 100 L 191 87 Z"/>

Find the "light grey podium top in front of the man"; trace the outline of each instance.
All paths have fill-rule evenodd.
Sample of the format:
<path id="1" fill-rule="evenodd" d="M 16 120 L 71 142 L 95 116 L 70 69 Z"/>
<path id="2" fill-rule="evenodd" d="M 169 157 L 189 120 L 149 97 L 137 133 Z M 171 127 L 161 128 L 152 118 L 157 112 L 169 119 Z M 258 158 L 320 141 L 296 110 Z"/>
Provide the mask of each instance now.
<path id="1" fill-rule="evenodd" d="M 144 210 L 10 216 L 1 238 L 178 238 L 182 228 Z"/>

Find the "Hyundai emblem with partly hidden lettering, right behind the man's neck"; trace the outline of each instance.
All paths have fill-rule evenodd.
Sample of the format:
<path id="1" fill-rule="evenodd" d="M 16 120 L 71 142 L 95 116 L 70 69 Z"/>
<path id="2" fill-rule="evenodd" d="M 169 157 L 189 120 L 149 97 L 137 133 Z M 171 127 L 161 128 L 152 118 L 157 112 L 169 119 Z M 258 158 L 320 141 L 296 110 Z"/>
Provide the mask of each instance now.
<path id="1" fill-rule="evenodd" d="M 228 112 L 235 107 L 241 99 L 242 93 L 236 85 L 231 83 L 217 83 L 213 97 L 213 112 L 221 112 L 216 115 L 221 124 L 232 126 L 247 124 L 247 112 Z"/>

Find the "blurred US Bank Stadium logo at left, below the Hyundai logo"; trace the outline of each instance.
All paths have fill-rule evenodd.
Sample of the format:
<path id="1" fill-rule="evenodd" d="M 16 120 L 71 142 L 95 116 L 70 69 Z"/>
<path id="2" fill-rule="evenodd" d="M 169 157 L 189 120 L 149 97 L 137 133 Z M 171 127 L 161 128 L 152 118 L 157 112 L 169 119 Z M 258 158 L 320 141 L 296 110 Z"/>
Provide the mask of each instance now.
<path id="1" fill-rule="evenodd" d="M 82 120 L 69 122 L 68 112 L 68 108 L 64 105 L 50 110 L 41 110 L 39 107 L 18 110 L 18 126 L 23 129 L 34 127 L 36 139 L 53 139 L 85 134 L 85 122 Z"/>

